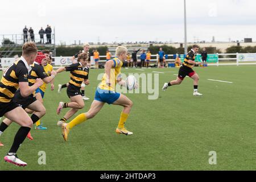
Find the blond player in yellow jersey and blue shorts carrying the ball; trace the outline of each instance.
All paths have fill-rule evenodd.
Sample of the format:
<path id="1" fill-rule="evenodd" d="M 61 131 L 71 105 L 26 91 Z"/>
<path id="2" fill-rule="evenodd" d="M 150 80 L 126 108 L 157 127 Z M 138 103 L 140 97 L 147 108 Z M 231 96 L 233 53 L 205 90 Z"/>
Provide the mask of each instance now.
<path id="1" fill-rule="evenodd" d="M 69 123 L 62 124 L 63 138 L 65 141 L 68 139 L 69 130 L 71 130 L 74 126 L 93 118 L 101 110 L 105 103 L 123 106 L 123 111 L 115 132 L 125 135 L 133 134 L 131 131 L 125 129 L 125 122 L 129 117 L 133 102 L 123 94 L 115 92 L 116 83 L 123 86 L 126 85 L 126 82 L 122 80 L 119 75 L 121 74 L 121 67 L 123 65 L 122 61 L 125 61 L 127 57 L 127 48 L 118 46 L 115 50 L 115 56 L 117 57 L 106 61 L 105 74 L 102 77 L 100 85 L 96 89 L 95 98 L 89 111 L 78 115 Z"/>

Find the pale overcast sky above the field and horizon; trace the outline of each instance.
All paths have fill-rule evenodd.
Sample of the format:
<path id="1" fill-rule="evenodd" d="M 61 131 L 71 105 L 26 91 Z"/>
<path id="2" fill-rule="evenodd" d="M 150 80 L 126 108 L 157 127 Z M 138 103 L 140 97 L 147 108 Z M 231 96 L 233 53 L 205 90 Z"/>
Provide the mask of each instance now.
<path id="1" fill-rule="evenodd" d="M 31 3 L 32 2 L 32 3 Z M 183 0 L 2 1 L 0 34 L 55 27 L 56 43 L 184 41 Z M 187 0 L 188 41 L 256 40 L 256 1 Z"/>

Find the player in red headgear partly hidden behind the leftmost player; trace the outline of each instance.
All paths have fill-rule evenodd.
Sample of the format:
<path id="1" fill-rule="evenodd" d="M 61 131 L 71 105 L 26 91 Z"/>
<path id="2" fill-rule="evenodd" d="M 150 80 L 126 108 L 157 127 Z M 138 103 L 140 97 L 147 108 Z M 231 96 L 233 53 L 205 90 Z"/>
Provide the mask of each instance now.
<path id="1" fill-rule="evenodd" d="M 52 76 L 48 76 L 44 72 L 44 68 L 42 67 L 42 65 L 40 65 L 42 63 L 42 60 L 44 59 L 46 59 L 46 56 L 44 56 L 42 52 L 38 52 L 35 63 L 31 65 L 31 71 L 28 74 L 28 84 L 30 86 L 34 85 L 36 82 L 36 79 L 38 78 L 42 79 L 46 83 L 49 83 L 54 79 L 56 72 L 53 71 L 51 72 Z M 21 106 L 23 109 L 28 108 L 32 110 L 31 119 L 33 123 L 37 122 L 40 118 L 42 118 L 46 114 L 46 108 L 43 106 L 42 102 L 36 100 L 35 92 L 30 94 L 30 96 L 28 97 L 23 97 L 20 92 L 20 89 L 18 89 L 14 94 L 13 101 L 19 106 Z M 11 119 L 8 119 L 8 118 L 5 118 L 3 120 L 3 123 L 5 123 L 6 126 L 10 126 L 12 122 L 13 121 L 11 121 Z M 28 134 L 28 138 L 31 140 L 33 139 L 30 133 Z"/>

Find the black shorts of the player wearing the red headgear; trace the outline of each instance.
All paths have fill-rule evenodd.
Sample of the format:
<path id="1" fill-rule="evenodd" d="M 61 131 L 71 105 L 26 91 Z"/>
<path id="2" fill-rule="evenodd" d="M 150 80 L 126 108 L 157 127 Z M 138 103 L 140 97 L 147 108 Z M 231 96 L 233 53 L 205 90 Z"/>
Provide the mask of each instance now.
<path id="1" fill-rule="evenodd" d="M 13 101 L 23 109 L 26 109 L 29 105 L 36 101 L 36 97 L 33 94 L 28 97 L 22 97 L 20 90 L 17 90 L 17 92 L 14 94 Z"/>

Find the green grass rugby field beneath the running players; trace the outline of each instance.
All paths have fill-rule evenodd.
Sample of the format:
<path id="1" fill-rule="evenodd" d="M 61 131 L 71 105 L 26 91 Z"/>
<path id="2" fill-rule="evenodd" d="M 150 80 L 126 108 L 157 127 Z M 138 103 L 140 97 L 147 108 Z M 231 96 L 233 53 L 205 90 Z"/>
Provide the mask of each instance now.
<path id="1" fill-rule="evenodd" d="M 55 79 L 56 90 L 47 89 L 44 105 L 47 114 L 42 119 L 46 131 L 31 130 L 18 151 L 25 168 L 4 162 L 18 125 L 13 123 L 1 136 L 1 170 L 255 170 L 256 169 L 256 77 L 255 66 L 195 68 L 199 73 L 199 92 L 194 97 L 193 83 L 183 84 L 162 92 L 164 82 L 176 78 L 177 68 L 122 69 L 123 73 L 159 73 L 159 98 L 148 100 L 148 94 L 126 94 L 133 110 L 126 127 L 133 135 L 115 134 L 122 107 L 105 105 L 88 122 L 74 127 L 68 142 L 61 137 L 56 122 L 59 101 L 69 101 L 65 89 L 57 94 L 57 85 L 69 81 L 68 73 Z M 91 69 L 90 86 L 82 113 L 89 109 L 99 73 Z M 209 81 L 208 79 L 233 82 Z M 77 115 L 77 114 L 76 114 Z M 39 165 L 39 151 L 46 152 L 46 165 Z M 210 165 L 210 151 L 217 152 L 217 165 Z"/>

